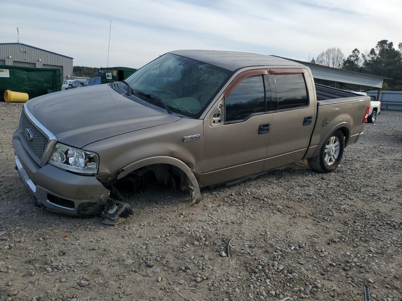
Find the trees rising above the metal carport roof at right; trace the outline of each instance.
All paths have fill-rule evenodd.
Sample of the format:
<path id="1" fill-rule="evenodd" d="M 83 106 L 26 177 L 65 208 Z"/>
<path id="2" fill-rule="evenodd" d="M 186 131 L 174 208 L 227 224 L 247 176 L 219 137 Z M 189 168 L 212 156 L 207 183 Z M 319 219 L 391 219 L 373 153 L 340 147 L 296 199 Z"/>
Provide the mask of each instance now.
<path id="1" fill-rule="evenodd" d="M 330 58 L 327 57 L 328 55 Z M 328 62 L 334 61 L 336 65 L 328 65 Z M 311 62 L 349 71 L 389 77 L 391 80 L 384 81 L 383 89 L 402 91 L 402 43 L 399 43 L 396 49 L 394 43 L 388 40 L 381 40 L 365 54 L 361 53 L 357 48 L 353 49 L 351 55 L 346 59 L 339 48 L 332 47 L 322 51 L 316 60 L 313 58 Z"/>

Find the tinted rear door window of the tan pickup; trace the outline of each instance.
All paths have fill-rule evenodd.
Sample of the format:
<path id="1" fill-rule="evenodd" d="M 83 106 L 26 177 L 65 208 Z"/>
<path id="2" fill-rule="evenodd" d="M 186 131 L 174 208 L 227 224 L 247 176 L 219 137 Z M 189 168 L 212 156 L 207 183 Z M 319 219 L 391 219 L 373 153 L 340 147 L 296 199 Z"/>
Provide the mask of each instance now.
<path id="1" fill-rule="evenodd" d="M 303 74 L 275 75 L 278 110 L 307 106 L 307 90 Z"/>

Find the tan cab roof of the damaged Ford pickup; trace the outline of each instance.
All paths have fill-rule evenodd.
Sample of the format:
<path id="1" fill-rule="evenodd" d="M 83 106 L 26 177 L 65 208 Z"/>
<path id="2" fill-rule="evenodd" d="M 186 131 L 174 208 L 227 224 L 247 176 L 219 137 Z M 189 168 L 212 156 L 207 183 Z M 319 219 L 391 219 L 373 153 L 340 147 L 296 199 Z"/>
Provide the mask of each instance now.
<path id="1" fill-rule="evenodd" d="M 281 57 L 263 55 L 250 52 L 222 51 L 222 50 L 176 50 L 172 54 L 195 59 L 203 63 L 214 65 L 226 70 L 236 71 L 244 67 L 254 66 L 304 66 Z"/>

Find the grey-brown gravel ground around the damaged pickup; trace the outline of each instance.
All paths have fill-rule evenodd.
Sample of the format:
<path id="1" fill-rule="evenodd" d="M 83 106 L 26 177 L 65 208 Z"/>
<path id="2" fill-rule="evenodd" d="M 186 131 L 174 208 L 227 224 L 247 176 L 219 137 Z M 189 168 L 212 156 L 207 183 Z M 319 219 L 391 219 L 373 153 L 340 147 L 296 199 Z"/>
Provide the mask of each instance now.
<path id="1" fill-rule="evenodd" d="M 0 300 L 402 300 L 402 112 L 330 174 L 306 161 L 187 194 L 150 187 L 114 227 L 34 207 L 0 103 Z M 229 250 L 228 250 L 229 245 Z M 356 299 L 354 299 L 356 298 Z"/>

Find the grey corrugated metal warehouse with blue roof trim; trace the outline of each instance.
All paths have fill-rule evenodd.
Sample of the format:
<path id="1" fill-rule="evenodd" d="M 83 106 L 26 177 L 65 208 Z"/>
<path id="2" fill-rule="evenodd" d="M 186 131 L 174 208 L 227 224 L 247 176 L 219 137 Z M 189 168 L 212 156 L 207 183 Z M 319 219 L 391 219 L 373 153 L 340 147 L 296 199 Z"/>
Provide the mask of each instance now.
<path id="1" fill-rule="evenodd" d="M 73 74 L 73 58 L 23 43 L 0 43 L 0 65 L 58 68 L 62 81 Z"/>

